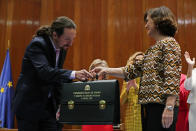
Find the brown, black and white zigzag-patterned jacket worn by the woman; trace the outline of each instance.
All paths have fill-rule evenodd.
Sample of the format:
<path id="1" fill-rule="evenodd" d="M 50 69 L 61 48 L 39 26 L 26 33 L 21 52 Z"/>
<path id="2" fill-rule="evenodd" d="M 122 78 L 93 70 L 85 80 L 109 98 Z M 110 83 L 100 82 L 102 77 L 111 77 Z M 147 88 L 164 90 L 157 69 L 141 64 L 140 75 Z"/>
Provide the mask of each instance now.
<path id="1" fill-rule="evenodd" d="M 175 95 L 176 106 L 179 105 L 181 49 L 174 38 L 157 41 L 145 52 L 143 60 L 123 70 L 127 80 L 141 77 L 140 104 L 165 104 L 168 95 Z"/>

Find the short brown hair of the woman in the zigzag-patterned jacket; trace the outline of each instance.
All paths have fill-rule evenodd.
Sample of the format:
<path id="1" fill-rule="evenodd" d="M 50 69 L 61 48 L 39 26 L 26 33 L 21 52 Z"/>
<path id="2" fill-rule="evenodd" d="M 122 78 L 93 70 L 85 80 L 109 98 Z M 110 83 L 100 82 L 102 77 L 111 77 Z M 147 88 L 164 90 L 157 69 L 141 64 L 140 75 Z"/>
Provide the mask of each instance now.
<path id="1" fill-rule="evenodd" d="M 164 36 L 174 37 L 177 31 L 177 22 L 172 11 L 166 6 L 158 8 L 151 8 L 145 12 L 144 21 L 147 22 L 147 16 L 149 16 L 157 31 Z"/>

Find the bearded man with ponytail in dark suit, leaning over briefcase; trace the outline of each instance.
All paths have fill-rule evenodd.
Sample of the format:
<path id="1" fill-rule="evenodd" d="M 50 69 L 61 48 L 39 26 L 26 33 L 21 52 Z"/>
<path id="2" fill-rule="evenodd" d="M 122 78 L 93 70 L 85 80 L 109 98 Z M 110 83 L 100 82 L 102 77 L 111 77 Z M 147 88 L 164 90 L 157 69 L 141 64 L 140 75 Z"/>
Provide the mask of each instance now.
<path id="1" fill-rule="evenodd" d="M 75 23 L 58 17 L 51 26 L 38 29 L 28 45 L 14 98 L 19 131 L 56 131 L 55 90 L 72 79 L 92 77 L 86 70 L 62 69 L 75 36 Z"/>

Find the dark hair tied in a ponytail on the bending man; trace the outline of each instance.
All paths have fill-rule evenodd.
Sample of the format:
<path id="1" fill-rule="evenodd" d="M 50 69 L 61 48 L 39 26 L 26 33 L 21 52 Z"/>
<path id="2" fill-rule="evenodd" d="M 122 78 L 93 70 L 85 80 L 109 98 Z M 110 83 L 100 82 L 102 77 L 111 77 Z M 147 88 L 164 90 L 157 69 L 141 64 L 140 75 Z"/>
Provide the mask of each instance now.
<path id="1" fill-rule="evenodd" d="M 51 26 L 45 25 L 41 26 L 37 31 L 35 36 L 51 36 L 53 32 L 56 32 L 57 36 L 61 36 L 64 33 L 64 29 L 76 29 L 76 24 L 73 20 L 68 17 L 60 16 L 57 17 L 51 24 Z"/>

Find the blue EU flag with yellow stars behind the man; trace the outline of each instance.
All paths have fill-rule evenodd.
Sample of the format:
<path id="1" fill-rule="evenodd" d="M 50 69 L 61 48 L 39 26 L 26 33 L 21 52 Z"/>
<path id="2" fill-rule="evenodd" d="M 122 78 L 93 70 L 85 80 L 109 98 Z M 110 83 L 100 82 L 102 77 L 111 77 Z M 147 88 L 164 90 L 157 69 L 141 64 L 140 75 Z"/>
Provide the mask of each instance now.
<path id="1" fill-rule="evenodd" d="M 14 127 L 14 113 L 11 109 L 14 96 L 9 50 L 7 50 L 0 76 L 0 121 L 1 127 Z"/>

